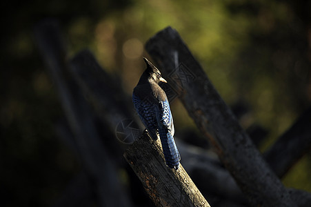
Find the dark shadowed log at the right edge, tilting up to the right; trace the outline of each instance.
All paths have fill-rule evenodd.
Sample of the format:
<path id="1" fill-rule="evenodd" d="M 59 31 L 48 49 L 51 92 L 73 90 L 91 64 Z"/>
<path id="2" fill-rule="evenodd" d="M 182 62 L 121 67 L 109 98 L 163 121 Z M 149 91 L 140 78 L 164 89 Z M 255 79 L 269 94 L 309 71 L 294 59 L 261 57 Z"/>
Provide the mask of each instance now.
<path id="1" fill-rule="evenodd" d="M 270 168 L 283 177 L 311 148 L 311 108 L 297 119 L 263 155 Z"/>

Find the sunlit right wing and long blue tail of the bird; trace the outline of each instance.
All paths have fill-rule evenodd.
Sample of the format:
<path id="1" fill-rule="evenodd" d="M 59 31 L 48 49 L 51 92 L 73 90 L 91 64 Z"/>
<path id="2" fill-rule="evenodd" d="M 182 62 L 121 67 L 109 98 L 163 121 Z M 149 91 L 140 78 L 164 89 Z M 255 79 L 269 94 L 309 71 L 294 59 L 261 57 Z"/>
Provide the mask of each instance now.
<path id="1" fill-rule="evenodd" d="M 174 124 L 168 99 L 159 103 L 157 120 L 165 162 L 170 168 L 178 169 L 181 158 L 173 137 Z"/>

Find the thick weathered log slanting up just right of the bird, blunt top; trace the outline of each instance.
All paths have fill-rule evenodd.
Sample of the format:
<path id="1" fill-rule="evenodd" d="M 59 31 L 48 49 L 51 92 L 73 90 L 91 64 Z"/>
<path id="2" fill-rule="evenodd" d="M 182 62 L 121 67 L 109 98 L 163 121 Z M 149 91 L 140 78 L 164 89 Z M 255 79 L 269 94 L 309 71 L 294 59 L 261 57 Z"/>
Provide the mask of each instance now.
<path id="1" fill-rule="evenodd" d="M 177 31 L 165 28 L 146 43 L 146 50 L 252 206 L 296 206 Z"/>

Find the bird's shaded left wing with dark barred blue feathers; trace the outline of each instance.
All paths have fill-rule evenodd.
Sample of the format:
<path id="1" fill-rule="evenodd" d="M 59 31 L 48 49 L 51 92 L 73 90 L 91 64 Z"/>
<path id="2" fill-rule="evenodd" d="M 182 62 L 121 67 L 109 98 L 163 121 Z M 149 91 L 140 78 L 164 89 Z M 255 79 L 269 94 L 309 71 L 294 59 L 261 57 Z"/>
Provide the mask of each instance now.
<path id="1" fill-rule="evenodd" d="M 139 118 L 143 125 L 147 128 L 152 139 L 157 140 L 157 118 L 154 105 L 148 99 L 141 100 L 136 95 L 132 95 L 134 108 L 136 109 Z"/>

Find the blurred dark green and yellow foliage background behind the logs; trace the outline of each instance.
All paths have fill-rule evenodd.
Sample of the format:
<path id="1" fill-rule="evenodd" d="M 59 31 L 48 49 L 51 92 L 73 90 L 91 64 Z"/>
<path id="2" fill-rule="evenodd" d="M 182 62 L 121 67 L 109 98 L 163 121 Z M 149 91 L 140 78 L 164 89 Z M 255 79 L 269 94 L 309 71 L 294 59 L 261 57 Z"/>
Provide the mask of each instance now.
<path id="1" fill-rule="evenodd" d="M 90 48 L 119 75 L 129 94 L 143 71 L 143 44 L 176 28 L 223 99 L 250 111 L 244 128 L 267 129 L 267 148 L 311 101 L 310 1 L 1 1 L 1 204 L 46 206 L 80 164 L 55 134 L 63 114 L 34 44 L 32 29 L 59 20 L 70 55 Z M 177 100 L 179 128 L 194 128 Z M 286 186 L 311 192 L 311 157 L 288 173 Z M 4 205 L 4 206 L 6 206 Z M 2 206 L 2 205 L 1 205 Z"/>

